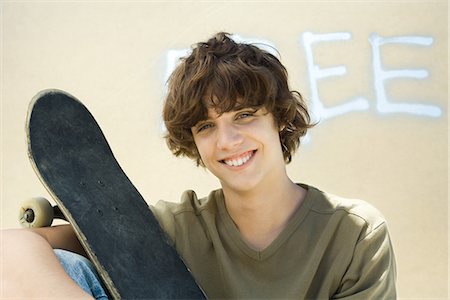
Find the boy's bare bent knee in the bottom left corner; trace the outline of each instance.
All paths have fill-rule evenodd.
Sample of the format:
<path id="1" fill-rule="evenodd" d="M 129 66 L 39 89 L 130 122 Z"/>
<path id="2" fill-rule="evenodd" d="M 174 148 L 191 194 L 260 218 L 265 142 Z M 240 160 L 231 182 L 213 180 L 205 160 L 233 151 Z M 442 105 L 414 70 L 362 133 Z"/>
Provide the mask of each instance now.
<path id="1" fill-rule="evenodd" d="M 0 298 L 92 299 L 67 275 L 44 237 L 28 230 L 0 234 Z"/>

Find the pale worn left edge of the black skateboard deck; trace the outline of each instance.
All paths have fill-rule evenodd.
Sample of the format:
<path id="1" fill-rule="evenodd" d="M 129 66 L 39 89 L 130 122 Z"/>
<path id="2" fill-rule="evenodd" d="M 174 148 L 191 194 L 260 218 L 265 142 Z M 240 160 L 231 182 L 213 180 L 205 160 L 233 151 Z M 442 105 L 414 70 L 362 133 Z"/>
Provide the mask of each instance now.
<path id="1" fill-rule="evenodd" d="M 100 261 L 98 260 L 97 256 L 94 254 L 91 246 L 89 245 L 86 236 L 83 234 L 83 232 L 80 230 L 80 228 L 78 227 L 78 224 L 76 223 L 75 219 L 72 217 L 72 214 L 66 209 L 66 207 L 64 206 L 63 202 L 58 198 L 58 196 L 56 196 L 56 194 L 52 191 L 52 189 L 47 185 L 47 183 L 45 182 L 44 178 L 42 177 L 38 166 L 36 165 L 36 162 L 34 160 L 33 157 L 33 151 L 31 149 L 31 143 L 30 143 L 30 120 L 32 117 L 32 112 L 33 112 L 33 107 L 35 106 L 35 104 L 45 95 L 49 95 L 49 94 L 63 94 L 66 95 L 74 100 L 76 100 L 77 102 L 81 103 L 80 100 L 78 100 L 76 97 L 74 97 L 73 95 L 59 90 L 59 89 L 46 89 L 46 90 L 42 90 L 39 93 L 37 93 L 32 100 L 30 101 L 29 107 L 28 107 L 28 112 L 27 112 L 27 119 L 25 122 L 25 132 L 26 132 L 26 138 L 27 138 L 27 152 L 28 152 L 28 158 L 31 162 L 31 166 L 34 170 L 34 172 L 36 173 L 37 177 L 39 178 L 39 181 L 42 183 L 42 185 L 44 186 L 44 188 L 47 190 L 47 192 L 50 194 L 50 196 L 56 201 L 56 203 L 58 204 L 59 208 L 61 209 L 62 213 L 64 214 L 64 216 L 67 218 L 67 221 L 72 225 L 72 227 L 74 227 L 75 229 L 75 234 L 78 238 L 78 240 L 80 241 L 80 243 L 82 244 L 83 248 L 86 250 L 87 255 L 89 256 L 89 259 L 91 260 L 91 262 L 94 264 L 96 270 L 98 270 L 99 272 L 99 276 L 101 277 L 101 279 L 103 280 L 103 282 L 105 283 L 105 285 L 108 288 L 108 292 L 111 294 L 111 296 L 114 299 L 121 299 L 121 296 L 119 294 L 119 291 L 117 290 L 116 286 L 114 285 L 113 281 L 111 280 L 111 278 L 109 277 L 108 273 L 106 272 L 105 268 L 103 267 L 103 265 L 100 263 Z M 81 103 L 82 104 L 82 103 Z M 84 106 L 84 105 L 83 105 Z"/>

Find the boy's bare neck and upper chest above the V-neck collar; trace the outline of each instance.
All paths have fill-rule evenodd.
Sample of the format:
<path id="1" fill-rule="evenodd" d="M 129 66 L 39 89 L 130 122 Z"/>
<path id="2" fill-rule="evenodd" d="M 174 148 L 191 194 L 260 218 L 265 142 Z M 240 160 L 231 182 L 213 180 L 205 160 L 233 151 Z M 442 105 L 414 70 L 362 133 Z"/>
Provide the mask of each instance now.
<path id="1" fill-rule="evenodd" d="M 306 190 L 284 180 L 258 190 L 236 193 L 224 188 L 227 211 L 242 238 L 255 250 L 263 250 L 283 231 L 297 211 Z"/>

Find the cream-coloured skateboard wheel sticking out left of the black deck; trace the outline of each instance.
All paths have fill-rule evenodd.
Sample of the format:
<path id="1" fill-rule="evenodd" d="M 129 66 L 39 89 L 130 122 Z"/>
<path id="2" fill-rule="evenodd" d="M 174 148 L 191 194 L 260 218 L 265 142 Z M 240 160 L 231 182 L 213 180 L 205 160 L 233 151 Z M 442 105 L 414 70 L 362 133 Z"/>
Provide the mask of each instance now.
<path id="1" fill-rule="evenodd" d="M 53 207 L 42 197 L 23 201 L 19 209 L 19 223 L 22 227 L 47 227 L 53 222 Z"/>

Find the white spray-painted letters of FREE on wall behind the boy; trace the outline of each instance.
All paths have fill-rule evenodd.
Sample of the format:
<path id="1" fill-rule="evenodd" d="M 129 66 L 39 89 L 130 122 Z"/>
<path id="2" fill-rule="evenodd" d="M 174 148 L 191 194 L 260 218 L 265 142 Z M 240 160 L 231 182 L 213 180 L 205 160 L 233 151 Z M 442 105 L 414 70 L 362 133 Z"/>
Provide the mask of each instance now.
<path id="1" fill-rule="evenodd" d="M 275 45 L 265 39 L 248 39 L 239 35 L 234 35 L 233 39 L 240 42 L 253 43 L 270 53 L 277 55 Z M 320 98 L 318 81 L 332 76 L 343 76 L 347 73 L 345 66 L 336 66 L 331 68 L 320 68 L 314 61 L 313 46 L 317 43 L 330 41 L 348 41 L 351 39 L 349 32 L 321 33 L 315 34 L 305 32 L 301 35 L 300 41 L 306 55 L 307 73 L 309 79 L 310 97 L 309 101 L 312 115 L 314 119 L 325 121 L 333 117 L 338 117 L 351 112 L 368 110 L 370 101 L 364 97 L 355 97 L 346 102 L 327 107 Z M 396 36 L 381 37 L 377 33 L 369 36 L 369 43 L 372 49 L 372 72 L 373 86 L 375 90 L 375 108 L 380 114 L 409 114 L 414 116 L 438 118 L 442 115 L 442 109 L 436 105 L 424 103 L 407 103 L 390 100 L 385 83 L 388 80 L 396 78 L 426 79 L 429 76 L 428 70 L 425 69 L 398 69 L 386 70 L 382 64 L 381 48 L 387 44 L 406 44 L 429 47 L 433 43 L 433 38 L 424 36 Z M 170 50 L 167 53 L 167 69 L 165 73 L 165 81 L 176 67 L 179 58 L 189 54 L 189 49 Z"/>

